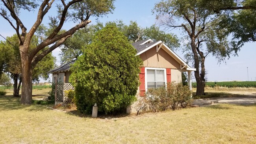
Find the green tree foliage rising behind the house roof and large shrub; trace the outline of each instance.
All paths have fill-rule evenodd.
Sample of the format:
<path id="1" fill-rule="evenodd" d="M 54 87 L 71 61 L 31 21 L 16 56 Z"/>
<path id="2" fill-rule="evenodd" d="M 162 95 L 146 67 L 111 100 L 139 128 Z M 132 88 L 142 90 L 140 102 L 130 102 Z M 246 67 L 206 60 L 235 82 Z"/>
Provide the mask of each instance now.
<path id="1" fill-rule="evenodd" d="M 105 26 L 109 25 L 116 26 L 119 31 L 124 33 L 130 42 L 153 39 L 154 41 L 161 40 L 165 42 L 165 44 L 174 50 L 180 46 L 176 35 L 165 33 L 156 25 L 152 25 L 149 28 L 141 28 L 135 21 L 130 21 L 130 24 L 126 25 L 122 20 L 107 22 L 105 24 Z M 92 37 L 102 28 L 104 28 L 104 24 L 97 23 L 76 31 L 76 33 L 69 37 L 61 46 L 61 63 L 70 62 L 77 59 L 79 55 L 82 55 L 82 48 L 87 48 L 88 44 L 92 41 Z"/>

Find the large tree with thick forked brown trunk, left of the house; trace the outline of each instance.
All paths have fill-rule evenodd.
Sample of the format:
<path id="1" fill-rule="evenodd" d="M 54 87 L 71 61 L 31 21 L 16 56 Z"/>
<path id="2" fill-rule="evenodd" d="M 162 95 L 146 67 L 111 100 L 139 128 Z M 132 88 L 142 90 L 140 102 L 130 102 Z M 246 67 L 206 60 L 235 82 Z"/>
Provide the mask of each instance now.
<path id="1" fill-rule="evenodd" d="M 32 103 L 32 70 L 35 65 L 60 46 L 68 37 L 74 34 L 80 28 L 84 28 L 91 22 L 91 16 L 99 17 L 106 15 L 114 9 L 114 0 L 70 0 L 65 2 L 61 0 L 1 0 L 0 15 L 6 19 L 11 27 L 16 31 L 19 37 L 19 51 L 21 57 L 22 71 L 22 93 L 20 103 Z M 43 22 L 44 17 L 48 13 L 52 4 L 56 3 L 57 14 L 51 16 L 50 20 L 53 24 L 52 31 L 47 35 L 40 44 L 33 50 L 30 50 L 30 44 L 33 35 Z M 19 12 L 22 10 L 37 10 L 37 18 L 30 29 L 22 22 Z M 67 20 L 78 22 L 76 26 L 67 31 L 61 31 L 63 24 Z M 49 46 L 47 48 L 47 46 Z"/>

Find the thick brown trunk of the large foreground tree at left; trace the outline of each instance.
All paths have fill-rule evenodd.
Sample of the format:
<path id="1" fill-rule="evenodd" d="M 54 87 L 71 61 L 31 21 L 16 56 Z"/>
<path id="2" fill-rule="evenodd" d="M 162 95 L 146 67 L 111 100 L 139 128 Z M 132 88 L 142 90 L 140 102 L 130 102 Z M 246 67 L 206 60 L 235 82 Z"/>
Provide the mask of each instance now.
<path id="1" fill-rule="evenodd" d="M 21 88 L 21 104 L 31 104 L 32 103 L 32 66 L 31 60 L 29 59 L 26 52 L 26 48 L 23 50 L 20 48 L 20 57 L 21 57 L 21 79 L 22 79 L 22 88 Z"/>

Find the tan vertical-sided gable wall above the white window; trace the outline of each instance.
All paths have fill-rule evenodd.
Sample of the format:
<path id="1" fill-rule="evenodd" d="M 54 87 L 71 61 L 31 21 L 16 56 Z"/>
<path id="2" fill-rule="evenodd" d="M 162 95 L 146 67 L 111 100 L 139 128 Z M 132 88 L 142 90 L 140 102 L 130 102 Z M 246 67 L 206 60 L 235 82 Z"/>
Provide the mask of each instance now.
<path id="1" fill-rule="evenodd" d="M 145 67 L 180 69 L 180 63 L 178 63 L 162 48 L 156 52 L 156 46 L 139 56 L 141 57 L 143 66 Z"/>

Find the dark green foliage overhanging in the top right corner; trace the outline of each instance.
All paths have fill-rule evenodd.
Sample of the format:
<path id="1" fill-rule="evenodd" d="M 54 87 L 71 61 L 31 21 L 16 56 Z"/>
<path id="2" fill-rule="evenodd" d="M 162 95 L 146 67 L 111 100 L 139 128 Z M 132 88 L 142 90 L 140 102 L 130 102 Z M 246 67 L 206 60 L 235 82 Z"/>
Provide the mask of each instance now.
<path id="1" fill-rule="evenodd" d="M 256 41 L 256 0 L 203 0 L 207 8 L 221 16 L 219 29 L 227 29 L 238 45 Z"/>

